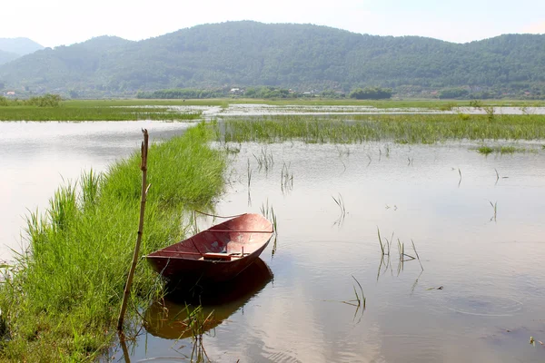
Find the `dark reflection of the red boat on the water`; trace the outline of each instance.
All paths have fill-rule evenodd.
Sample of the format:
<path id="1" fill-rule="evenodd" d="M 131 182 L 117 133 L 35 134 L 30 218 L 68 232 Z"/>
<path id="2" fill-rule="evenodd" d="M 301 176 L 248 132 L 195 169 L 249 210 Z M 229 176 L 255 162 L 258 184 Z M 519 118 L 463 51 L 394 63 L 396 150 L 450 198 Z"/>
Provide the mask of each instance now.
<path id="1" fill-rule="evenodd" d="M 144 328 L 155 337 L 190 338 L 213 329 L 241 309 L 272 280 L 272 271 L 257 259 L 236 278 L 218 285 L 176 290 L 145 312 Z"/>

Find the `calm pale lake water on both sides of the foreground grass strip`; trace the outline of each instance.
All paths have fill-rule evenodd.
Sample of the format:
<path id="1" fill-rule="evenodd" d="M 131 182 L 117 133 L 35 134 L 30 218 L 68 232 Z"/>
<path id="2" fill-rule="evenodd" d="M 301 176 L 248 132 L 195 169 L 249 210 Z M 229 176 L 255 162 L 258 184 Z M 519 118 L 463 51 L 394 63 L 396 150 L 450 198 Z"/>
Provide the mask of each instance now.
<path id="1" fill-rule="evenodd" d="M 62 177 L 104 171 L 134 152 L 142 127 L 156 141 L 188 126 L 0 123 L 7 175 L 0 260 L 20 243 L 26 208 L 43 208 Z M 203 303 L 215 317 L 203 335 L 207 356 L 542 362 L 545 151 L 525 144 L 536 151 L 485 157 L 471 150 L 476 145 L 230 145 L 240 151 L 230 156 L 229 184 L 215 212 L 260 212 L 268 204 L 278 238 L 221 301 Z M 260 169 L 263 155 L 272 164 Z M 333 197 L 342 199 L 344 213 Z M 390 258 L 381 256 L 377 229 L 383 242 L 393 233 Z M 421 264 L 399 260 L 398 243 L 416 255 L 411 240 Z M 365 309 L 346 303 L 355 299 L 354 288 L 360 291 L 352 276 L 362 285 Z M 173 319 L 182 308 L 169 303 L 168 316 L 163 308 L 144 311 L 147 330 L 129 345 L 131 361 L 189 360 L 193 341 L 180 338 L 183 324 Z M 124 359 L 119 347 L 111 354 Z"/>

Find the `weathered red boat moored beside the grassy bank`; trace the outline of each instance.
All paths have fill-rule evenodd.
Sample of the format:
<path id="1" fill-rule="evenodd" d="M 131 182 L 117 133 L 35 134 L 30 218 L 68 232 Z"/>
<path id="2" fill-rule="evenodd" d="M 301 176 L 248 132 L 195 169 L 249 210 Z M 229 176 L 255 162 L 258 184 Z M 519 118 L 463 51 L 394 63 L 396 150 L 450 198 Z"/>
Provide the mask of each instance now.
<path id="1" fill-rule="evenodd" d="M 171 282 L 216 283 L 231 280 L 269 244 L 272 223 L 261 214 L 243 214 L 187 240 L 145 256 Z"/>

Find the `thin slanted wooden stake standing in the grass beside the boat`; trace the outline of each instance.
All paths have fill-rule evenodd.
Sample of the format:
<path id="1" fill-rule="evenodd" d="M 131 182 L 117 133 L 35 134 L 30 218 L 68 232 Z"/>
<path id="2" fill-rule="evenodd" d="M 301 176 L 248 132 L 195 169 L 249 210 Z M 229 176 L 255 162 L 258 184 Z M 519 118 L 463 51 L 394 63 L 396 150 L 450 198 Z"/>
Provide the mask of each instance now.
<path id="1" fill-rule="evenodd" d="M 147 176 L 147 150 L 148 150 L 148 133 L 147 130 L 143 129 L 144 133 L 144 142 L 142 142 L 142 163 L 140 165 L 140 170 L 142 171 L 142 197 L 140 201 L 140 222 L 138 224 L 138 237 L 136 238 L 136 245 L 134 246 L 133 254 L 133 264 L 131 265 L 131 270 L 129 271 L 129 276 L 127 277 L 127 282 L 125 283 L 123 303 L 121 304 L 121 312 L 119 313 L 119 319 L 117 320 L 117 330 L 123 330 L 123 320 L 124 314 L 127 309 L 127 302 L 129 299 L 129 293 L 131 291 L 131 285 L 133 285 L 134 270 L 136 270 L 136 262 L 138 262 L 138 253 L 140 250 L 140 244 L 142 243 L 142 233 L 144 230 L 144 210 L 145 210 L 145 200 L 147 192 L 150 189 L 150 185 L 147 185 L 146 176 Z"/>

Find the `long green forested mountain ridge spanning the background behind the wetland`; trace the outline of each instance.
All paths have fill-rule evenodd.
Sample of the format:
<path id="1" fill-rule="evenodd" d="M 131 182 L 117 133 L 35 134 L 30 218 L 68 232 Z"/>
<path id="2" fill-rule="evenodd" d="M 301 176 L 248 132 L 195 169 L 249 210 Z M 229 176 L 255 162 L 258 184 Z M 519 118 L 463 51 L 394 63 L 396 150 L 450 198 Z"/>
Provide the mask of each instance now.
<path id="1" fill-rule="evenodd" d="M 545 94 L 545 35 L 468 44 L 354 34 L 317 25 L 228 22 L 140 42 L 99 37 L 0 66 L 0 83 L 35 92 L 131 93 L 270 85 L 298 90 L 376 85 Z"/>

